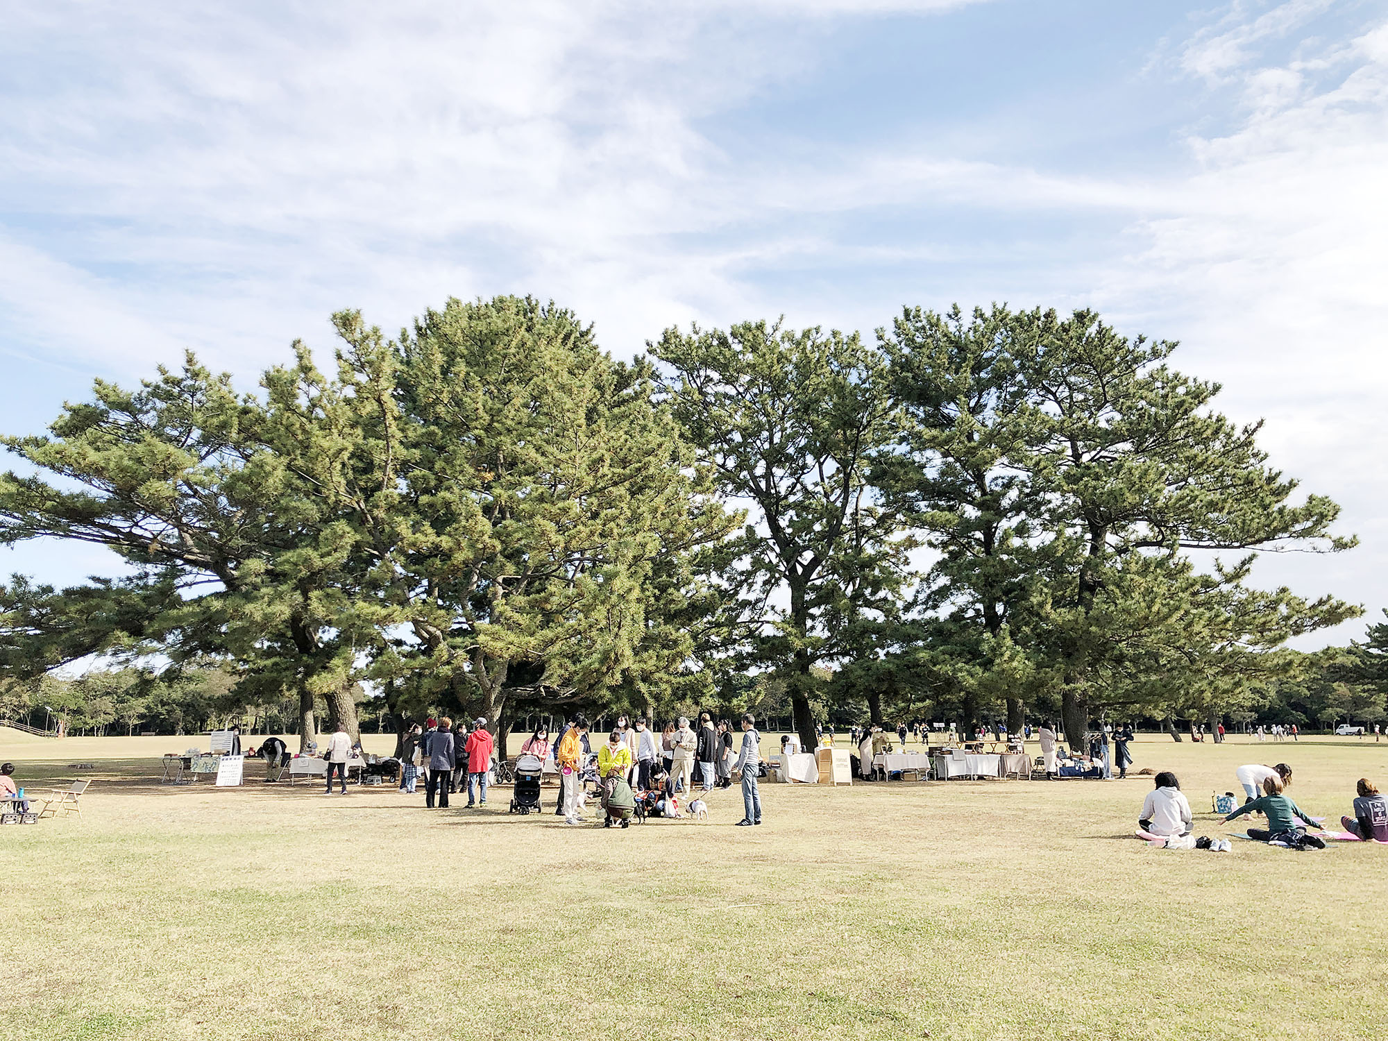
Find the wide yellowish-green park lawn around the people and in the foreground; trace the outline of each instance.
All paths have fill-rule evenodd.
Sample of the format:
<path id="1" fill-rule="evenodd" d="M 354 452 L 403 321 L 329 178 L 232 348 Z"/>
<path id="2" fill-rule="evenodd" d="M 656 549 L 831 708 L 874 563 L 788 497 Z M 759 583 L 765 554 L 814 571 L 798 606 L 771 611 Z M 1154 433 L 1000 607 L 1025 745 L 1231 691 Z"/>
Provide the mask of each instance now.
<path id="1" fill-rule="evenodd" d="M 426 812 L 158 786 L 147 756 L 182 740 L 24 761 L 97 769 L 82 820 L 0 829 L 0 1037 L 1388 1035 L 1388 849 L 1148 849 L 1148 777 L 763 784 L 759 829 L 730 826 L 733 788 L 708 823 L 609 831 L 509 816 L 505 788 Z M 1134 751 L 1181 776 L 1198 834 L 1242 830 L 1209 812 L 1241 762 L 1292 763 L 1331 820 L 1356 777 L 1388 784 L 1371 741 Z"/>

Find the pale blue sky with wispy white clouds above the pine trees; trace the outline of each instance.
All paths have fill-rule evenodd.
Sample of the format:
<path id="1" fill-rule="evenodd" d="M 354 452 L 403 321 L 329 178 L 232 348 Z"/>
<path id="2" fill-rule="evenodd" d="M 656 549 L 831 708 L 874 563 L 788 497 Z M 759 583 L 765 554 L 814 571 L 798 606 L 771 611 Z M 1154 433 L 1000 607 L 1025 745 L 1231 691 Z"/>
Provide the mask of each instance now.
<path id="1" fill-rule="evenodd" d="M 1088 305 L 1181 340 L 1345 507 L 1359 550 L 1262 583 L 1388 604 L 1382 3 L 226 7 L 0 12 L 4 430 L 185 347 L 251 386 L 333 310 L 450 294 L 555 298 L 616 354 Z"/>

